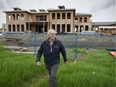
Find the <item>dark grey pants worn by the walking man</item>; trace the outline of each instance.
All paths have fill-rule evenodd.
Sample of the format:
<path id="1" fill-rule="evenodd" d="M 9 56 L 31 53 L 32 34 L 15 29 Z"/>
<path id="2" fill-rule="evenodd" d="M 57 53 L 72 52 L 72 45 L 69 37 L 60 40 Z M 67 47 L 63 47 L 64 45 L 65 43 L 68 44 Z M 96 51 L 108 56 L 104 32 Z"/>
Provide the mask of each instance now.
<path id="1" fill-rule="evenodd" d="M 58 69 L 58 64 L 54 65 L 46 65 L 46 68 L 49 71 L 49 82 L 50 82 L 50 87 L 56 87 L 56 72 Z"/>

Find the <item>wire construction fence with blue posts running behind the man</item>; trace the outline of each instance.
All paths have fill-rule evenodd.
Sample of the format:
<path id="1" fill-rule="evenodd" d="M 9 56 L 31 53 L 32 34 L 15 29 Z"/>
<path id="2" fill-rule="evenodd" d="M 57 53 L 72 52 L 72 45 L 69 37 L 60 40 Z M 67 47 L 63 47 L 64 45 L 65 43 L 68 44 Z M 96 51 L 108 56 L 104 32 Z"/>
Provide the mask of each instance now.
<path id="1" fill-rule="evenodd" d="M 57 34 L 57 39 L 61 40 L 65 48 L 95 48 L 106 49 L 116 48 L 115 36 L 97 36 L 97 35 L 77 35 Z M 47 34 L 29 33 L 29 34 L 5 34 L 0 36 L 0 42 L 11 51 L 37 53 L 41 43 L 47 39 Z M 77 49 L 74 50 L 74 58 L 77 58 Z"/>

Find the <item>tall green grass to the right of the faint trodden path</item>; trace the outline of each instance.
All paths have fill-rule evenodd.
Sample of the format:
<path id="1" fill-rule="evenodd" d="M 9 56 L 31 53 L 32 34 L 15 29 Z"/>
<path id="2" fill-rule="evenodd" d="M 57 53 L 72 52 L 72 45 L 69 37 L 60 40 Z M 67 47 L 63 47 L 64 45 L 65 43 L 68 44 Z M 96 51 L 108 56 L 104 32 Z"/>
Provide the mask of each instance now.
<path id="1" fill-rule="evenodd" d="M 80 53 L 86 56 L 77 63 L 61 64 L 57 73 L 57 87 L 115 87 L 115 58 L 105 50 Z M 84 56 L 85 57 L 85 56 Z M 49 87 L 48 78 L 34 87 Z"/>

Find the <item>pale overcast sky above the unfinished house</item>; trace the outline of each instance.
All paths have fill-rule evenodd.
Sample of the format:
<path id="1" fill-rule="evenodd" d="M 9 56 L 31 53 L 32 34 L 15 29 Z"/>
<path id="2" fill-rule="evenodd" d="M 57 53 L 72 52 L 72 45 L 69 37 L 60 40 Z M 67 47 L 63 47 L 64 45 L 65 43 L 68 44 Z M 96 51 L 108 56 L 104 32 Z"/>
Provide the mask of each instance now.
<path id="1" fill-rule="evenodd" d="M 75 8 L 76 13 L 92 14 L 92 22 L 116 21 L 116 0 L 0 0 L 0 27 L 6 22 L 3 11 L 19 7 L 23 10 L 58 8 Z"/>

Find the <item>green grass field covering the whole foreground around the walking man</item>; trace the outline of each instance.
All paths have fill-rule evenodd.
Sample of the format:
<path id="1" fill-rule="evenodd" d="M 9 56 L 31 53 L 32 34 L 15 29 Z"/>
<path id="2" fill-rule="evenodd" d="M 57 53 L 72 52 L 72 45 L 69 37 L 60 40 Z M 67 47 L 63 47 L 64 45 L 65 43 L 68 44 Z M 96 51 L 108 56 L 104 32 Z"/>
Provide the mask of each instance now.
<path id="1" fill-rule="evenodd" d="M 116 58 L 106 50 L 78 50 L 74 62 L 73 49 L 68 49 L 68 64 L 61 63 L 57 87 L 115 87 Z M 49 87 L 49 75 L 42 65 L 35 65 L 36 56 L 5 51 L 0 46 L 0 87 Z"/>

